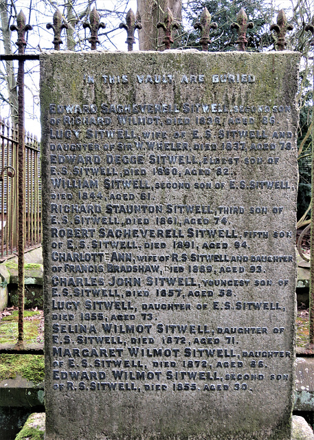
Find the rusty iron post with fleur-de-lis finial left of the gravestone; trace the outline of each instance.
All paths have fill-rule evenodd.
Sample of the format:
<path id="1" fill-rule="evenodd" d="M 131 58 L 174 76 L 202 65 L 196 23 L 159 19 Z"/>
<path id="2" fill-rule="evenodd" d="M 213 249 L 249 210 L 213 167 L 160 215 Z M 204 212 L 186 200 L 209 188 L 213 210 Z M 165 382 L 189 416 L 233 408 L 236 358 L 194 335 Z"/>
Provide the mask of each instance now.
<path id="1" fill-rule="evenodd" d="M 19 54 L 24 54 L 26 41 L 25 32 L 32 30 L 31 25 L 27 25 L 26 17 L 21 10 L 16 17 L 16 25 L 11 25 L 11 30 L 16 30 L 18 39 L 16 42 L 19 47 Z M 19 71 L 17 74 L 17 84 L 19 87 L 19 171 L 18 171 L 18 201 L 19 201 L 19 237 L 18 237 L 18 272 L 19 272 L 19 336 L 17 345 L 23 346 L 24 329 L 24 234 L 25 234 L 25 129 L 24 129 L 24 60 L 19 59 Z"/>

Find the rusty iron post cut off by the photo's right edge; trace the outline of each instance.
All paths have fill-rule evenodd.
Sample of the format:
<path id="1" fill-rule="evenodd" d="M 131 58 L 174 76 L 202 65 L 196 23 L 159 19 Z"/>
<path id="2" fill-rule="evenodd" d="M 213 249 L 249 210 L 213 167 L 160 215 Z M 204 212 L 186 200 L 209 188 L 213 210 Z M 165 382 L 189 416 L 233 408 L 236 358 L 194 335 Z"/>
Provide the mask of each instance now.
<path id="1" fill-rule="evenodd" d="M 305 27 L 306 31 L 311 32 L 312 40 L 311 46 L 313 47 L 313 76 L 314 80 L 314 16 L 312 22 Z M 314 83 L 313 83 L 313 96 L 314 96 Z M 314 118 L 314 111 L 312 107 L 312 118 Z M 314 344 L 314 124 L 312 127 L 312 199 L 311 199 L 311 266 L 310 266 L 310 333 L 309 343 Z"/>

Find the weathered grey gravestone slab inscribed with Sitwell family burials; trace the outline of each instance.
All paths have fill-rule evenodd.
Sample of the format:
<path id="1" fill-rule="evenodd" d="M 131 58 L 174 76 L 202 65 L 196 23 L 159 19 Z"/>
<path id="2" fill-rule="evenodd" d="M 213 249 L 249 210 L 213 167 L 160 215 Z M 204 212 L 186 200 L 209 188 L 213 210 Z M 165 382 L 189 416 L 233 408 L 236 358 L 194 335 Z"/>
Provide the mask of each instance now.
<path id="1" fill-rule="evenodd" d="M 47 440 L 290 438 L 298 60 L 41 55 Z"/>

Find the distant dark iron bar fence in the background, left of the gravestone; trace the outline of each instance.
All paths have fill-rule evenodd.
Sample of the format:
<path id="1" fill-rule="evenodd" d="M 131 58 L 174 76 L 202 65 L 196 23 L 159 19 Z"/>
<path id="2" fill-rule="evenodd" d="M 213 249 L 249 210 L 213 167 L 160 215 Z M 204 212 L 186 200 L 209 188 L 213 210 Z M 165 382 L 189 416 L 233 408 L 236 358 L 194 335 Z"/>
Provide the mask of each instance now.
<path id="1" fill-rule="evenodd" d="M 19 130 L 0 116 L 0 261 L 17 251 Z M 25 250 L 41 243 L 40 148 L 25 134 Z"/>

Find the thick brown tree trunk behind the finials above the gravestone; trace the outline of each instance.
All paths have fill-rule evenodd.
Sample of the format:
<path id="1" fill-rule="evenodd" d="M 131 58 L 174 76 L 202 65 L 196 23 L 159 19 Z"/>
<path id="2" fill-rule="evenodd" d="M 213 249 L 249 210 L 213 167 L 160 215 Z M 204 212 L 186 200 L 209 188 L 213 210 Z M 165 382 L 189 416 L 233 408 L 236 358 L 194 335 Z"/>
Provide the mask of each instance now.
<path id="1" fill-rule="evenodd" d="M 137 12 L 142 23 L 142 30 L 139 30 L 139 50 L 164 50 L 164 31 L 157 30 L 157 23 L 164 21 L 167 6 L 175 21 L 181 23 L 182 0 L 137 0 Z"/>

